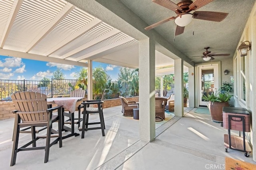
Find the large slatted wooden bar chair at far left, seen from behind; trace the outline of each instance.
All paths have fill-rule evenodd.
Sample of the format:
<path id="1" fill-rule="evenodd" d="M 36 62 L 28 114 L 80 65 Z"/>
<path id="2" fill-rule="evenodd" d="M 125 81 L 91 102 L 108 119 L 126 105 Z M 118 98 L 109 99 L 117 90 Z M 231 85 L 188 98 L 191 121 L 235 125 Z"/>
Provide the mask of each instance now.
<path id="1" fill-rule="evenodd" d="M 44 163 L 48 162 L 49 150 L 52 145 L 59 142 L 59 147 L 62 147 L 62 124 L 61 124 L 61 107 L 57 106 L 48 109 L 47 99 L 45 94 L 38 92 L 18 92 L 13 94 L 12 102 L 15 106 L 15 121 L 14 121 L 14 142 L 12 147 L 11 164 L 16 163 L 16 156 L 19 151 L 44 149 Z M 58 115 L 52 115 L 52 111 L 58 109 Z M 58 134 L 51 135 L 52 123 L 58 121 Z M 18 148 L 20 128 L 31 127 L 32 141 Z M 36 136 L 35 127 L 47 127 L 45 136 Z M 50 142 L 51 137 L 57 137 Z M 36 147 L 36 141 L 40 138 L 46 138 L 44 147 Z M 32 145 L 32 147 L 28 147 Z"/>

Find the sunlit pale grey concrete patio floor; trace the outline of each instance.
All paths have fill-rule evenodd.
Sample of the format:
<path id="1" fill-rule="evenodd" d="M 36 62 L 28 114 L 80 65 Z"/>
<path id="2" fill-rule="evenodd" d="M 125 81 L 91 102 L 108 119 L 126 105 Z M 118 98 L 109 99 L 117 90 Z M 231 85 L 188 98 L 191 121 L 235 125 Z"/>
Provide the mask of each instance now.
<path id="1" fill-rule="evenodd" d="M 168 121 L 156 122 L 156 139 L 151 143 L 139 138 L 139 121 L 123 117 L 121 106 L 103 109 L 105 137 L 100 129 L 63 140 L 63 147 L 50 148 L 49 161 L 44 163 L 44 150 L 18 152 L 16 164 L 10 166 L 14 119 L 0 121 L 0 160 L 3 170 L 206 170 L 225 169 L 225 157 L 256 164 L 244 152 L 225 152 L 227 129 L 211 121 L 209 114 L 195 113 L 196 108 L 184 107 L 184 117 L 166 114 Z M 77 115 L 75 113 L 75 115 Z M 90 115 L 97 121 L 98 114 Z M 56 123 L 55 123 L 56 124 Z M 80 133 L 77 130 L 76 132 Z M 45 131 L 41 132 L 45 134 Z M 65 132 L 68 133 L 68 132 Z M 238 134 L 232 131 L 232 134 Z M 30 134 L 20 134 L 20 142 Z M 37 146 L 45 140 L 38 140 Z M 218 168 L 216 168 L 218 167 Z"/>

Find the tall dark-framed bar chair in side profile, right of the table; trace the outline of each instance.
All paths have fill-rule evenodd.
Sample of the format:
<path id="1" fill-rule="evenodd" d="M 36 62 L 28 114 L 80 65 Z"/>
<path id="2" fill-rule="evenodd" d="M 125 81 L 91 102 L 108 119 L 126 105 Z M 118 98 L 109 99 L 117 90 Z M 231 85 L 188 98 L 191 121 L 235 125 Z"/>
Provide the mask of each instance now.
<path id="1" fill-rule="evenodd" d="M 101 100 L 87 100 L 85 102 L 82 102 L 81 107 L 84 108 L 82 111 L 83 114 L 83 123 L 82 128 L 79 128 L 79 131 L 82 131 L 82 139 L 84 138 L 85 131 L 88 130 L 94 130 L 94 129 L 101 129 L 102 130 L 102 136 L 105 136 L 105 122 L 104 122 L 104 115 L 103 115 L 103 102 L 104 102 L 104 95 L 105 95 L 105 89 L 102 93 Z M 99 122 L 93 122 L 89 123 L 89 115 L 91 113 L 99 113 L 100 121 Z M 95 125 L 100 124 L 100 127 L 88 127 L 88 125 Z"/>

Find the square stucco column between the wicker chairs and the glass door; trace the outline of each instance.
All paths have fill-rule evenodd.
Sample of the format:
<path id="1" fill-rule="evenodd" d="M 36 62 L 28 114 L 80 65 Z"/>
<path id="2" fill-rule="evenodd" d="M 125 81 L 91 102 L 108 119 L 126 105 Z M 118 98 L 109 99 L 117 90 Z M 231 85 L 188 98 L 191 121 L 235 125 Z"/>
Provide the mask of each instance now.
<path id="1" fill-rule="evenodd" d="M 175 116 L 184 115 L 183 105 L 183 60 L 174 60 L 174 114 Z"/>

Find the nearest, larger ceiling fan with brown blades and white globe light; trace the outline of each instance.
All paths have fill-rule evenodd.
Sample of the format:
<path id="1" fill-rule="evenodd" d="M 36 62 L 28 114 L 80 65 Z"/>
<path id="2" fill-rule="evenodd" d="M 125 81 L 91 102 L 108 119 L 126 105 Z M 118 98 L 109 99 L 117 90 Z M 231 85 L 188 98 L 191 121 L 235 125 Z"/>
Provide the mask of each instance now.
<path id="1" fill-rule="evenodd" d="M 157 27 L 162 23 L 166 23 L 168 21 L 174 20 L 174 22 L 177 24 L 175 35 L 180 35 L 184 32 L 185 26 L 188 25 L 193 18 L 199 19 L 199 20 L 220 22 L 224 20 L 226 16 L 228 16 L 228 13 L 224 13 L 224 12 L 195 11 L 201 8 L 202 6 L 205 6 L 206 4 L 212 2 L 213 0 L 195 0 L 194 2 L 192 0 L 181 0 L 180 2 L 178 2 L 178 4 L 175 4 L 170 0 L 152 0 L 152 1 L 155 2 L 156 4 L 159 4 L 161 6 L 164 6 L 165 8 L 168 8 L 174 11 L 177 14 L 177 16 L 166 18 L 162 21 L 154 23 L 146 27 L 145 28 L 146 30 Z M 191 14 L 190 12 L 193 10 L 195 12 Z"/>

